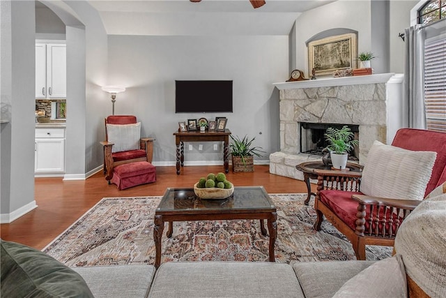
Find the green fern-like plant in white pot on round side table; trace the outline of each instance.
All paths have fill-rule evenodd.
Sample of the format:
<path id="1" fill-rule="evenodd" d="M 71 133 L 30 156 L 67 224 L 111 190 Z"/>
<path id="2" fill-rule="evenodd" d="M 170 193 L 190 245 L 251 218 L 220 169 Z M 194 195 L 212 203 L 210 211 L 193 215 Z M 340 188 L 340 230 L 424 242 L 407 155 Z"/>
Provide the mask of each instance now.
<path id="1" fill-rule="evenodd" d="M 337 170 L 344 170 L 347 165 L 348 151 L 359 144 L 354 140 L 355 134 L 351 128 L 344 125 L 342 128 L 327 128 L 325 140 L 329 143 L 327 149 L 330 150 L 332 165 Z"/>

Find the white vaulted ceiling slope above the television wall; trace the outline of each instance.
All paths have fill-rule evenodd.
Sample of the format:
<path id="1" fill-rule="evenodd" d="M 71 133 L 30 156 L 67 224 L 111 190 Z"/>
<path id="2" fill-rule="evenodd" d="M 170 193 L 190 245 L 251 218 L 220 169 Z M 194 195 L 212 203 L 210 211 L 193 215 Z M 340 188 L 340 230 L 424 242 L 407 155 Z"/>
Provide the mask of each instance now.
<path id="1" fill-rule="evenodd" d="M 306 10 L 335 0 L 89 0 L 108 34 L 117 35 L 288 35 Z M 319 22 L 319 20 L 315 20 Z"/>

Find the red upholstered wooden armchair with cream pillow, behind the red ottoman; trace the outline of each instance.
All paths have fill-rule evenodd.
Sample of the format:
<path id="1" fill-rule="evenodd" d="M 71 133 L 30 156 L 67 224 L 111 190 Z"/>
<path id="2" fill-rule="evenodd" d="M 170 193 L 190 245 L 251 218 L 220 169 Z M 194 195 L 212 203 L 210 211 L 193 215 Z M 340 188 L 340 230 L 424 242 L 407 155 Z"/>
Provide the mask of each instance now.
<path id="1" fill-rule="evenodd" d="M 113 168 L 124 163 L 147 161 L 152 163 L 153 141 L 140 138 L 141 126 L 132 115 L 109 116 L 105 119 L 104 172 L 105 179 L 113 177 Z"/>

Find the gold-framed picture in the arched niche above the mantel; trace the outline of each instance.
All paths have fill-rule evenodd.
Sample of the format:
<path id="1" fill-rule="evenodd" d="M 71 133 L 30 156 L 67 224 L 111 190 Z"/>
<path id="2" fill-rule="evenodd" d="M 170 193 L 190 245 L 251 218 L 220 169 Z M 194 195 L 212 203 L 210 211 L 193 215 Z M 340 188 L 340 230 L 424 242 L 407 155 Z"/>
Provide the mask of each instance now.
<path id="1" fill-rule="evenodd" d="M 333 75 L 336 70 L 357 68 L 357 35 L 346 33 L 308 43 L 308 67 L 310 76 Z"/>

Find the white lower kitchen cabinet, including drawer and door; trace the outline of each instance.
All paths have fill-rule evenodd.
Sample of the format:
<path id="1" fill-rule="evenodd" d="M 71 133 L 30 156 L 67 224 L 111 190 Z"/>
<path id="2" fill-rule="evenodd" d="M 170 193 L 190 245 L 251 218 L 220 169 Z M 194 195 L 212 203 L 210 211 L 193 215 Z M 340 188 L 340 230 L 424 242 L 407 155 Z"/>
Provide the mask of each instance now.
<path id="1" fill-rule="evenodd" d="M 36 128 L 34 172 L 65 172 L 65 128 Z"/>

